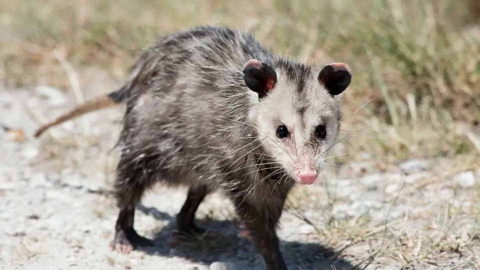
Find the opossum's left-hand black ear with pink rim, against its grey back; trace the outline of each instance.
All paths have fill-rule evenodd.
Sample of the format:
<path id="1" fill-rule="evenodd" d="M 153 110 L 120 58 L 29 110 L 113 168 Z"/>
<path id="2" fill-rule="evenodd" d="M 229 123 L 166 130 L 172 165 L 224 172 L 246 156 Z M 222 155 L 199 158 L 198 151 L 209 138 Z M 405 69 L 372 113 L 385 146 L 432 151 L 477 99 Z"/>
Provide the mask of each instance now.
<path id="1" fill-rule="evenodd" d="M 263 98 L 276 83 L 276 72 L 270 65 L 256 59 L 248 60 L 243 66 L 243 80 L 250 90 Z"/>

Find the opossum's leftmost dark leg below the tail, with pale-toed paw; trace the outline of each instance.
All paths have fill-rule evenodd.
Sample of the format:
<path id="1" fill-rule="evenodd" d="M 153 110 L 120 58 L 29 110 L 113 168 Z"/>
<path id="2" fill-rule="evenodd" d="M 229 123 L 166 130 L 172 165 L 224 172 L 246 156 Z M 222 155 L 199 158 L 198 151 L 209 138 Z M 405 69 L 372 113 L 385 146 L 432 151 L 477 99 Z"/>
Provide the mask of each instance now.
<path id="1" fill-rule="evenodd" d="M 153 241 L 140 236 L 133 228 L 135 206 L 143 191 L 150 184 L 148 158 L 134 159 L 122 154 L 117 166 L 115 197 L 120 208 L 115 224 L 115 237 L 110 249 L 120 253 L 129 253 L 137 246 L 151 246 Z"/>

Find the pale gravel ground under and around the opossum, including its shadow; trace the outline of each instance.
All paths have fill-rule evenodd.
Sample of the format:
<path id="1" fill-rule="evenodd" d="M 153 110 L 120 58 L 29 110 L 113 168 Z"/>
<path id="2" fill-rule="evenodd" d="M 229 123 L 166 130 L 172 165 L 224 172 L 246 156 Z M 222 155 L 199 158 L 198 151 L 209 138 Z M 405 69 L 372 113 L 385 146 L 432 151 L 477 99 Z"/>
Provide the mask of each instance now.
<path id="1" fill-rule="evenodd" d="M 115 86 L 103 85 L 102 92 Z M 40 139 L 31 136 L 40 120 L 63 112 L 73 100 L 46 86 L 0 91 L 0 123 L 26 134 L 17 141 L 0 131 L 0 268 L 263 269 L 253 245 L 235 236 L 238 224 L 220 193 L 200 205 L 198 219 L 225 237 L 169 246 L 186 192 L 161 186 L 145 195 L 135 216 L 137 231 L 154 238 L 156 246 L 128 255 L 111 252 L 118 212 L 108 190 L 121 108 L 87 114 Z M 380 171 L 365 161 L 342 167 L 328 185 L 298 187 L 279 230 L 289 269 L 352 269 L 369 258 L 371 264 L 362 264 L 366 269 L 477 267 L 480 249 L 472 233 L 478 171 L 438 178 L 436 167 L 434 161 L 412 159 Z M 437 245 L 431 243 L 435 239 Z"/>

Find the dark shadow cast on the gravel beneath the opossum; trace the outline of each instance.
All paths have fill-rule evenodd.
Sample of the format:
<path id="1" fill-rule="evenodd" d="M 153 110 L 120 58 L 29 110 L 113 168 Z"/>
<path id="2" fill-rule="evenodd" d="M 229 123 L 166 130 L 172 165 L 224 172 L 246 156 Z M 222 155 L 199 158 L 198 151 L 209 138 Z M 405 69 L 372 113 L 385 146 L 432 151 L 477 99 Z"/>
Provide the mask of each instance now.
<path id="1" fill-rule="evenodd" d="M 158 211 L 154 207 L 138 206 L 138 210 L 159 220 L 167 220 L 168 224 L 157 231 L 153 240 L 154 247 L 139 248 L 148 254 L 165 257 L 182 257 L 192 263 L 210 264 L 214 261 L 232 262 L 236 269 L 264 269 L 263 259 L 249 240 L 238 237 L 238 225 L 229 220 L 196 219 L 199 226 L 225 234 L 218 240 L 191 240 L 175 247 L 168 245 L 175 230 L 175 217 Z M 291 270 L 359 270 L 346 259 L 335 255 L 332 248 L 318 243 L 302 243 L 281 241 L 280 250 Z M 328 259 L 327 259 L 328 258 Z"/>

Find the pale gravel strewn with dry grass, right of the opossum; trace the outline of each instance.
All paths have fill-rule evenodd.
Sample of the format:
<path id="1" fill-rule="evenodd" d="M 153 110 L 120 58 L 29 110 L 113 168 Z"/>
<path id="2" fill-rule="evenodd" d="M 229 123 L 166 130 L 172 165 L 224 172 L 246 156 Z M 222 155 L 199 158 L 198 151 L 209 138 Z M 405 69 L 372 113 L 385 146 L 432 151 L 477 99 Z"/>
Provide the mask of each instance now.
<path id="1" fill-rule="evenodd" d="M 462 171 L 468 162 L 445 160 L 433 167 Z M 324 189 L 298 188 L 288 198 L 285 215 L 311 225 L 313 241 L 334 247 L 362 269 L 480 268 L 480 190 L 458 186 L 451 178 L 457 171 L 384 174 L 378 185 L 366 186 L 371 174 L 345 179 L 348 169 L 341 170 L 343 183 L 330 178 Z"/>

